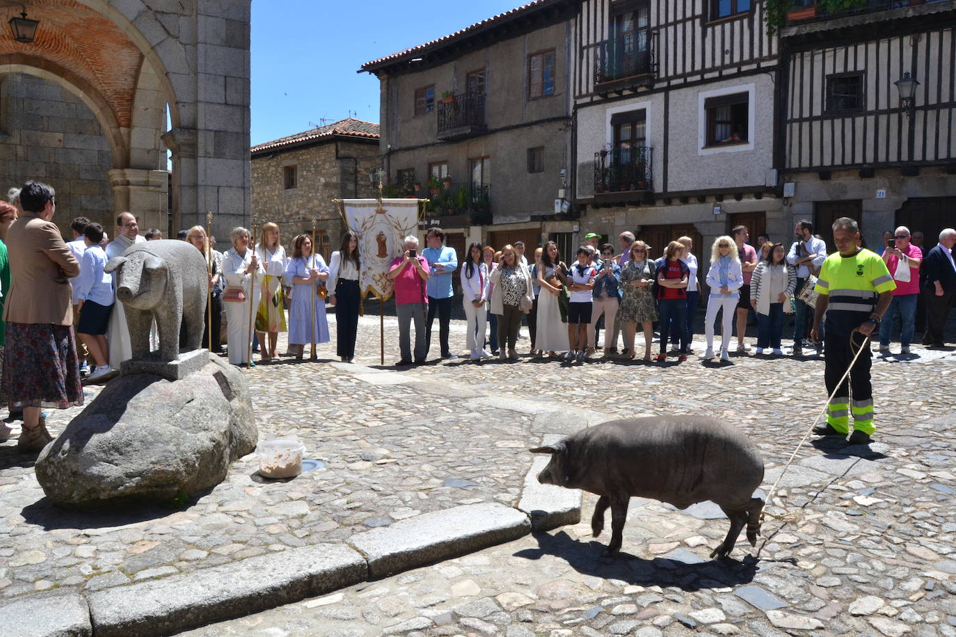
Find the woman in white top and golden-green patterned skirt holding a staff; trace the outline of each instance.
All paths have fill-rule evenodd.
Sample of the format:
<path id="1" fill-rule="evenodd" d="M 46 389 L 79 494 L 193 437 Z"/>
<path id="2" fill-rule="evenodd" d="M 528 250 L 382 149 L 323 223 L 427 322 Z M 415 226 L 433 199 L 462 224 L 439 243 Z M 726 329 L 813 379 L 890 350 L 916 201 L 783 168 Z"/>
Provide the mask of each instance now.
<path id="1" fill-rule="evenodd" d="M 260 360 L 269 362 L 278 358 L 275 344 L 279 332 L 286 330 L 285 301 L 282 295 L 282 275 L 286 271 L 286 249 L 279 243 L 279 226 L 266 223 L 262 226 L 262 243 L 255 246 L 255 256 L 262 264 L 266 276 L 263 277 L 261 298 L 255 312 L 255 331 L 261 348 Z M 266 341 L 266 334 L 269 341 Z"/>

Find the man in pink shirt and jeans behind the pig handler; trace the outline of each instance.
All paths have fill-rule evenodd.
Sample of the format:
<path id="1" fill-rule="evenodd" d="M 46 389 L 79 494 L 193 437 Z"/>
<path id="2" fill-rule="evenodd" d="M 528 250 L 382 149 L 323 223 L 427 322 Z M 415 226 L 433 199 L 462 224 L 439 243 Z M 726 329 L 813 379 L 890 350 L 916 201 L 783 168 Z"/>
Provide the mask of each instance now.
<path id="1" fill-rule="evenodd" d="M 890 337 L 893 335 L 893 322 L 900 315 L 900 353 L 909 353 L 909 344 L 913 340 L 916 325 L 916 300 L 920 296 L 920 264 L 923 263 L 923 250 L 910 243 L 909 228 L 901 225 L 893 233 L 895 247 L 883 251 L 883 263 L 896 279 L 893 301 L 880 322 L 880 351 L 889 353 Z"/>

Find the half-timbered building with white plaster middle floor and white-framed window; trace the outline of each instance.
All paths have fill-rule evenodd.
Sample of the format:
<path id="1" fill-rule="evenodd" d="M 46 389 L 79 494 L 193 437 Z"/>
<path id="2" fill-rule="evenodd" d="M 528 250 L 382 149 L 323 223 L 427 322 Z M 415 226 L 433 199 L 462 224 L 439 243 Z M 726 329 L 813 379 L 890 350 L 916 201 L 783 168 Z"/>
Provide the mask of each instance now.
<path id="1" fill-rule="evenodd" d="M 575 25 L 582 232 L 698 255 L 737 224 L 792 232 L 778 197 L 776 38 L 763 0 L 583 0 Z M 703 241 L 702 241 L 703 240 Z"/>

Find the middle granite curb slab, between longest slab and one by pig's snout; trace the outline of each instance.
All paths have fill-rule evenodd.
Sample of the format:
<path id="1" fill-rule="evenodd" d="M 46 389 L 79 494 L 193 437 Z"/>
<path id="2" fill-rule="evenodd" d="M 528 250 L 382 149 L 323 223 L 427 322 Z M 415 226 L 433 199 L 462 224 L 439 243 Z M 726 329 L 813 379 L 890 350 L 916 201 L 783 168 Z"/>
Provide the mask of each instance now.
<path id="1" fill-rule="evenodd" d="M 528 516 L 510 506 L 483 502 L 424 513 L 353 536 L 349 543 L 365 556 L 369 576 L 463 555 L 531 532 Z"/>

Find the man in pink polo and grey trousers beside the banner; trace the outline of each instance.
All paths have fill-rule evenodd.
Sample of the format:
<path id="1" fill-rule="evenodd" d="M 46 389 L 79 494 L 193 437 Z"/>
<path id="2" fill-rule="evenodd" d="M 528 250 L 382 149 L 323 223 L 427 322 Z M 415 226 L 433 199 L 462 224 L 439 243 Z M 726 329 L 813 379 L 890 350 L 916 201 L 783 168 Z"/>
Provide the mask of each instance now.
<path id="1" fill-rule="evenodd" d="M 425 313 L 428 304 L 428 262 L 418 254 L 418 237 L 408 235 L 405 251 L 388 269 L 388 278 L 395 282 L 395 313 L 399 317 L 399 349 L 402 359 L 396 365 L 411 365 L 411 322 L 415 321 L 415 363 L 424 363 L 428 354 L 425 336 Z"/>

